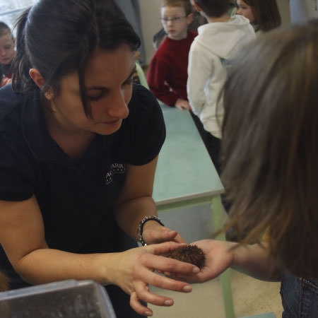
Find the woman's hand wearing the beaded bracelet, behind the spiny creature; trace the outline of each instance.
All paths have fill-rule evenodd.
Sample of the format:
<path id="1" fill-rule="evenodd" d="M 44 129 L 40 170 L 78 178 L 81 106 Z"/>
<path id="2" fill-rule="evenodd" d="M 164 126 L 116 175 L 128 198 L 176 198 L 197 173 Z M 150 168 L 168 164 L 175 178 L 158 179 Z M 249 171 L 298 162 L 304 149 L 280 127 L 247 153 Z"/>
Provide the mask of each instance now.
<path id="1" fill-rule="evenodd" d="M 148 222 L 143 225 L 143 240 L 147 245 L 168 241 L 177 243 L 186 242 L 177 231 L 170 230 L 170 228 L 166 228 L 154 220 L 148 220 Z"/>

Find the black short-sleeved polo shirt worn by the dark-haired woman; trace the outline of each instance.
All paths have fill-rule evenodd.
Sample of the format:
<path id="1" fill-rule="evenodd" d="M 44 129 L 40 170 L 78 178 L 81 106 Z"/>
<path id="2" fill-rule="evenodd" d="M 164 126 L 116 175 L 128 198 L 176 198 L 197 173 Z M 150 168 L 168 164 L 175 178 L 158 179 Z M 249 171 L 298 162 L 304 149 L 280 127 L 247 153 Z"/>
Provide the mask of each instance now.
<path id="1" fill-rule="evenodd" d="M 0 90 L 0 200 L 21 201 L 35 194 L 51 248 L 117 251 L 121 234 L 112 204 L 124 185 L 126 164 L 149 163 L 164 139 L 157 100 L 134 86 L 129 117 L 119 131 L 96 135 L 74 162 L 47 131 L 39 91 L 23 96 L 5 86 Z M 4 259 L 2 251 L 0 266 Z"/>

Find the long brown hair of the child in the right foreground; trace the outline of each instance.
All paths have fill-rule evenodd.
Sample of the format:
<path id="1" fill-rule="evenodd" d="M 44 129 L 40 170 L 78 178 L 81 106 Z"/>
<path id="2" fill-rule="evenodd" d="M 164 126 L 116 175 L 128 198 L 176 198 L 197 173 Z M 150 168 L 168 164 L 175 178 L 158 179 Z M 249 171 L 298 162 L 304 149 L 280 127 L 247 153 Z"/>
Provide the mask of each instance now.
<path id="1" fill-rule="evenodd" d="M 318 278 L 318 21 L 242 49 L 224 87 L 230 226 L 296 276 Z"/>

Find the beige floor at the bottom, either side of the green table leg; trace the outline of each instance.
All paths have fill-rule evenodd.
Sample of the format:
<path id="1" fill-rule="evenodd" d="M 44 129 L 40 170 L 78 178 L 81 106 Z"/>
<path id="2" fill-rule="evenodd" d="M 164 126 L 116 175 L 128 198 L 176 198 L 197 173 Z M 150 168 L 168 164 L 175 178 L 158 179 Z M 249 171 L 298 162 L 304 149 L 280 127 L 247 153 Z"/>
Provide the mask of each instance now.
<path id="1" fill-rule="evenodd" d="M 279 283 L 258 281 L 245 274 L 231 271 L 235 317 L 274 312 L 276 318 L 283 311 Z M 192 293 L 151 290 L 169 295 L 175 300 L 172 307 L 151 306 L 153 318 L 224 318 L 223 300 L 218 279 L 192 286 Z"/>

